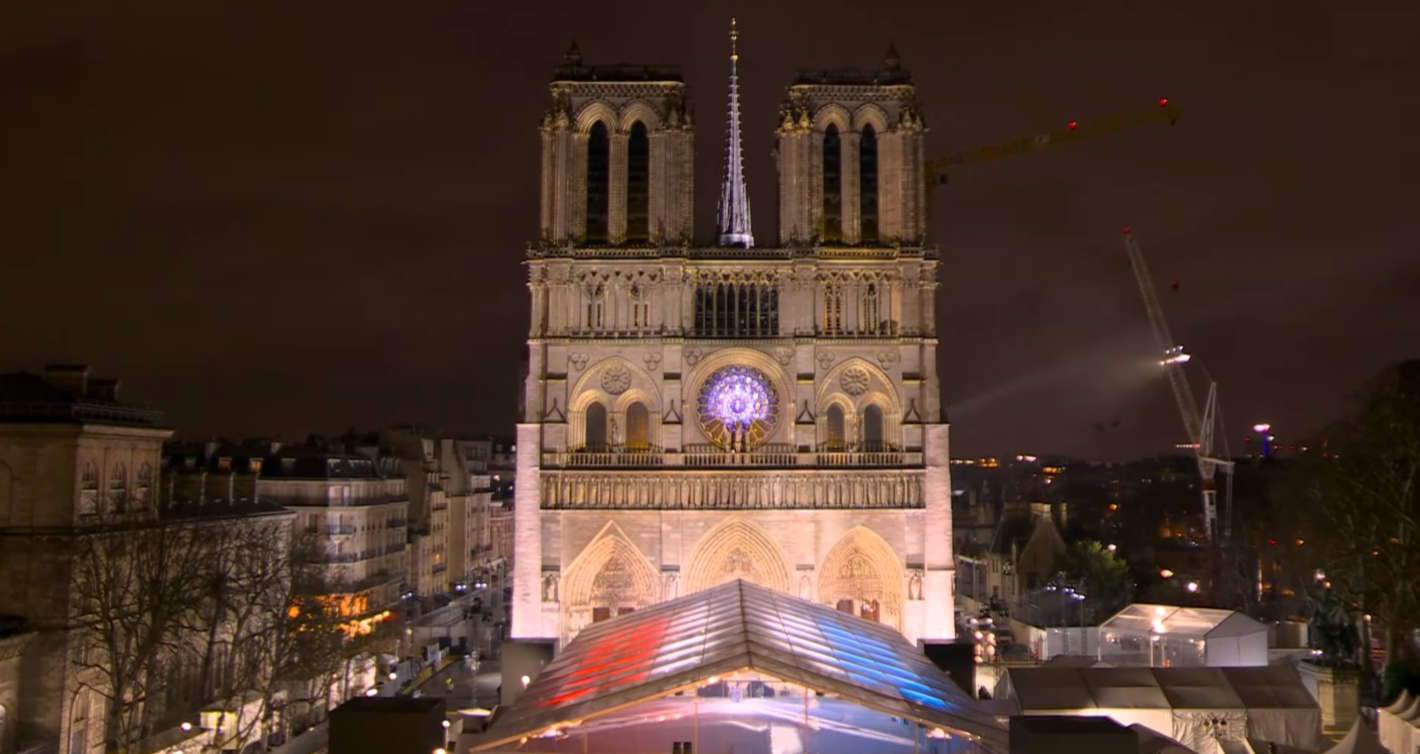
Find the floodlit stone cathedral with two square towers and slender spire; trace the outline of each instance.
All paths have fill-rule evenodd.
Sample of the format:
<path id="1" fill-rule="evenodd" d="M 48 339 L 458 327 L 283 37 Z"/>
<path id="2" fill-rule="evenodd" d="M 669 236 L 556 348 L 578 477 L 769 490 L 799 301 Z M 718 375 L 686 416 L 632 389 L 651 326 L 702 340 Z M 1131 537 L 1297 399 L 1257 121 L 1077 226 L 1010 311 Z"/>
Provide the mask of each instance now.
<path id="1" fill-rule="evenodd" d="M 511 636 L 726 579 L 953 636 L 936 251 L 912 77 L 808 71 L 777 116 L 780 234 L 755 241 L 737 31 L 717 243 L 693 244 L 676 68 L 575 45 L 542 118 L 528 250 Z M 761 239 L 763 240 L 763 239 Z"/>

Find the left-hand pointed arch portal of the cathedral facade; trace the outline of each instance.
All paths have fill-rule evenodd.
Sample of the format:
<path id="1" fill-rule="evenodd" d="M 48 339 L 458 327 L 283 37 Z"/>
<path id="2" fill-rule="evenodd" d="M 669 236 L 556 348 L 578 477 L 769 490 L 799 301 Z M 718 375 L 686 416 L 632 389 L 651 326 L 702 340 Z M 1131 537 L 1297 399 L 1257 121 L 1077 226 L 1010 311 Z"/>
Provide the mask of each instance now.
<path id="1" fill-rule="evenodd" d="M 608 523 L 568 565 L 562 578 L 564 640 L 585 626 L 660 601 L 656 567 Z"/>

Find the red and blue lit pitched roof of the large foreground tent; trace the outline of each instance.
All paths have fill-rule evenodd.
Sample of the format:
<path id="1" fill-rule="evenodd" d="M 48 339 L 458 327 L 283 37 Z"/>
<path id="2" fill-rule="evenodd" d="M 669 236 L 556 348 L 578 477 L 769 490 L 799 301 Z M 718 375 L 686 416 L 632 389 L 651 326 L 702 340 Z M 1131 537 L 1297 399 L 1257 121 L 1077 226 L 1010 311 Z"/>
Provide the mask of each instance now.
<path id="1" fill-rule="evenodd" d="M 896 630 L 731 581 L 584 629 L 481 745 L 753 670 L 1005 748 L 1005 728 Z"/>

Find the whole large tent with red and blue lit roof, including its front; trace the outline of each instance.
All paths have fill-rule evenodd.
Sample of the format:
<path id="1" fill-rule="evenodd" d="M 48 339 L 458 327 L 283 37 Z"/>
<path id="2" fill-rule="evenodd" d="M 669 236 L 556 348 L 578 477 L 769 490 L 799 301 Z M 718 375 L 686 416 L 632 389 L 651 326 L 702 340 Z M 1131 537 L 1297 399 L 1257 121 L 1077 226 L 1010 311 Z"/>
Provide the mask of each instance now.
<path id="1" fill-rule="evenodd" d="M 1007 750 L 896 630 L 730 581 L 584 629 L 480 751 Z"/>

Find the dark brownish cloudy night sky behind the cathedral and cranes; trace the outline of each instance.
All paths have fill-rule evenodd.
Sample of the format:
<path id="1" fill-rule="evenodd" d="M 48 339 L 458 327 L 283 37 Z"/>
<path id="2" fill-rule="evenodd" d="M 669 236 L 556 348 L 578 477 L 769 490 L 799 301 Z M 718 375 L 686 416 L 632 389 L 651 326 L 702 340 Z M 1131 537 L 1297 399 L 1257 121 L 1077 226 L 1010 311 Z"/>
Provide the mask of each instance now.
<path id="1" fill-rule="evenodd" d="M 761 243 L 795 68 L 896 43 L 937 155 L 1183 108 L 937 192 L 957 454 L 1183 439 L 1123 224 L 1234 450 L 1420 355 L 1416 3 L 163 0 L 0 18 L 0 369 L 91 364 L 186 437 L 510 433 L 552 67 L 682 67 L 707 240 L 731 13 Z"/>

